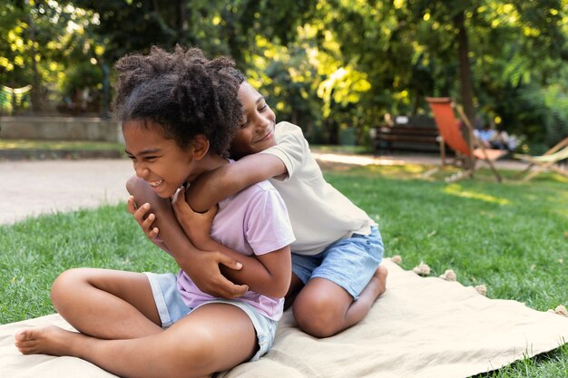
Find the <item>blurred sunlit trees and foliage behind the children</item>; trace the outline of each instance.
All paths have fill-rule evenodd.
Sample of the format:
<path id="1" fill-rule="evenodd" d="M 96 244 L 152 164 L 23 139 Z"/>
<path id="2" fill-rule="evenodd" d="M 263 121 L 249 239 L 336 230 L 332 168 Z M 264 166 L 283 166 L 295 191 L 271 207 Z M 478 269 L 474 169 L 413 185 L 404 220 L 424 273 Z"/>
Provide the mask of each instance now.
<path id="1" fill-rule="evenodd" d="M 113 64 L 152 44 L 230 55 L 279 121 L 366 146 L 449 96 L 547 150 L 568 135 L 568 0 L 0 0 L 0 115 L 109 117 Z"/>

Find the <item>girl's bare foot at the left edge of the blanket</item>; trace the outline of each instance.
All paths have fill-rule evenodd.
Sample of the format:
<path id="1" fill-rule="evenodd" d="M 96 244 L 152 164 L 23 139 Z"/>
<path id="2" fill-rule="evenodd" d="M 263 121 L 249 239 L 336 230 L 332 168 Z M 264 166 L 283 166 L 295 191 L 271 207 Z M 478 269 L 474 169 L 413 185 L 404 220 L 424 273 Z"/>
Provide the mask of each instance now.
<path id="1" fill-rule="evenodd" d="M 54 325 L 29 328 L 15 334 L 15 346 L 22 354 L 70 355 L 76 335 Z"/>

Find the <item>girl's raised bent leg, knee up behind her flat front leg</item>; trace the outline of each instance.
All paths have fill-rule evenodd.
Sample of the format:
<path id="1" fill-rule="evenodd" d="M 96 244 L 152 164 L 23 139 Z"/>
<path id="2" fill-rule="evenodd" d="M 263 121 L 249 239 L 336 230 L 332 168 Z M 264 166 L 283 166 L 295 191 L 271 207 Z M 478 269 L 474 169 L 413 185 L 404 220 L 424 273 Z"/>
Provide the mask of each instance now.
<path id="1" fill-rule="evenodd" d="M 148 277 L 142 273 L 78 268 L 52 287 L 57 312 L 83 334 L 125 339 L 162 332 Z"/>

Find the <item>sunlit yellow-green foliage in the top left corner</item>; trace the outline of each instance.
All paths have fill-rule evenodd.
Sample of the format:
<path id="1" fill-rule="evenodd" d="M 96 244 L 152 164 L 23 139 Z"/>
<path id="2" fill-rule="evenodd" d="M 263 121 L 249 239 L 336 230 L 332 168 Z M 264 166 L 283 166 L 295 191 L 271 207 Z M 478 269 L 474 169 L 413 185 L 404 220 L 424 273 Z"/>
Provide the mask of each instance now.
<path id="1" fill-rule="evenodd" d="M 89 36 L 97 16 L 67 3 L 0 1 L 0 34 L 7 42 L 0 45 L 0 83 L 12 88 L 32 85 L 36 111 L 48 110 L 46 102 L 61 100 L 65 93 L 59 88 L 69 83 L 69 67 L 100 63 L 103 47 Z M 100 91 L 101 81 L 93 83 L 93 73 L 76 82 L 76 89 Z"/>

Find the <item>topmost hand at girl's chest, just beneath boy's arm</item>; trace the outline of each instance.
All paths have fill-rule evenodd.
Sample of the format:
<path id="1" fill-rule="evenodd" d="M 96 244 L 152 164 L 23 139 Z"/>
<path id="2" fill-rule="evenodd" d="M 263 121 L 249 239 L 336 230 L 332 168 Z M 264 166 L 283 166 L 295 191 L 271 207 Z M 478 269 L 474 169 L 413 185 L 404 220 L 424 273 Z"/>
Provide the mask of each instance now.
<path id="1" fill-rule="evenodd" d="M 178 189 L 171 199 L 175 218 L 191 242 L 199 244 L 211 236 L 211 224 L 217 214 L 217 205 L 205 213 L 196 213 L 185 200 L 185 188 Z"/>

